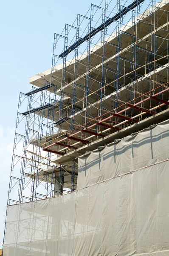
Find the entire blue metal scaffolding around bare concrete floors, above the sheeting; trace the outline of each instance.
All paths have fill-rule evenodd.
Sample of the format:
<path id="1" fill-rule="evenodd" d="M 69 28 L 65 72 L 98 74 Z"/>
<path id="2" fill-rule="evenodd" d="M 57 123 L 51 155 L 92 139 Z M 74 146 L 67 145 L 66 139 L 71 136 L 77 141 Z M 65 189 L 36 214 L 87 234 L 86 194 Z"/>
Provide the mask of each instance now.
<path id="1" fill-rule="evenodd" d="M 104 0 L 55 33 L 20 93 L 8 205 L 76 190 L 72 152 L 167 110 L 168 51 L 168 0 Z"/>

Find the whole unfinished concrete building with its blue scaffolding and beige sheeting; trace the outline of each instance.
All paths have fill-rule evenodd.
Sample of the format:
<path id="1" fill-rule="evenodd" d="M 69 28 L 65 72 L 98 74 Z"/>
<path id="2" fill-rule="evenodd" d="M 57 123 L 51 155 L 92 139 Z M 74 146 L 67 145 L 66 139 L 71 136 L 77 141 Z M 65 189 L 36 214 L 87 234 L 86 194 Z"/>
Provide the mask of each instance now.
<path id="1" fill-rule="evenodd" d="M 20 93 L 3 256 L 169 256 L 169 1 L 89 7 Z"/>

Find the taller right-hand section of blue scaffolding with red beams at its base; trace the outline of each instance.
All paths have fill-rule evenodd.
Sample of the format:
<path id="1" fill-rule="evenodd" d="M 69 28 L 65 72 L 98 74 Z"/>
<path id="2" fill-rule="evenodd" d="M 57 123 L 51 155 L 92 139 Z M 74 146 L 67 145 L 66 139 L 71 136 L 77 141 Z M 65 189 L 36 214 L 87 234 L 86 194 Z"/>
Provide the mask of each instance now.
<path id="1" fill-rule="evenodd" d="M 90 18 L 78 15 L 76 27 L 66 24 L 64 37 L 55 34 L 52 83 L 60 93 L 58 137 L 52 144 L 46 142 L 43 150 L 65 155 L 168 108 L 168 3 L 162 7 L 149 1 L 139 15 L 143 2 L 147 3 L 134 1 L 124 7 L 118 1 L 114 16 L 108 11 L 111 1 L 105 8 L 91 5 Z M 86 19 L 84 37 L 81 26 Z M 72 30 L 75 35 L 68 45 Z M 59 55 L 61 39 L 64 49 Z M 60 59 L 62 76 L 56 66 Z"/>

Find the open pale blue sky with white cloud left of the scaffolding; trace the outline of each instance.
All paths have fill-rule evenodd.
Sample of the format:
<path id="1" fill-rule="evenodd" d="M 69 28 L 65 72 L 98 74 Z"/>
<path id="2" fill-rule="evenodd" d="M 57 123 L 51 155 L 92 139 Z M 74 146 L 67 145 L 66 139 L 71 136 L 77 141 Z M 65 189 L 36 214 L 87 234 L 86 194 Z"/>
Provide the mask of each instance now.
<path id="1" fill-rule="evenodd" d="M 97 0 L 92 3 L 98 4 Z M 91 0 L 8 0 L 0 8 L 0 247 L 6 215 L 14 129 L 20 91 L 29 77 L 51 67 L 54 32 L 85 15 Z"/>

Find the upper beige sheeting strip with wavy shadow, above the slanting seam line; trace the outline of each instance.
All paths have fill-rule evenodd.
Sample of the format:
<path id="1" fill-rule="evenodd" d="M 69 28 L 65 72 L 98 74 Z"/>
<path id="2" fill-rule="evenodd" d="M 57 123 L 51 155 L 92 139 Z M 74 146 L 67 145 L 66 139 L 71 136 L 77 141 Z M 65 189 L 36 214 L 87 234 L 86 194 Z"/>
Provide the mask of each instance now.
<path id="1" fill-rule="evenodd" d="M 169 159 L 169 120 L 78 158 L 77 189 Z"/>

